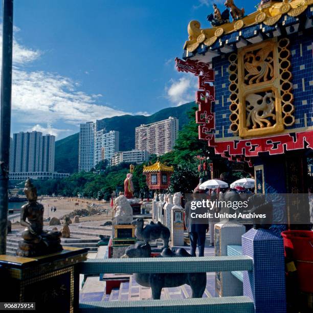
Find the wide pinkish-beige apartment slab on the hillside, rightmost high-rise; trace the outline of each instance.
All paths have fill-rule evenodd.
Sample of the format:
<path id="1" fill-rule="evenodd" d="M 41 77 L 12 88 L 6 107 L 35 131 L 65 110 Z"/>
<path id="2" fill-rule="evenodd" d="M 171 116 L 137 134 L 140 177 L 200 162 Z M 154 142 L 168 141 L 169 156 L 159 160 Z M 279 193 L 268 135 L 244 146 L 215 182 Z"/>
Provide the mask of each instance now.
<path id="1" fill-rule="evenodd" d="M 149 154 L 162 155 L 173 149 L 178 136 L 178 119 L 169 117 L 167 120 L 135 129 L 136 150 L 146 150 Z"/>

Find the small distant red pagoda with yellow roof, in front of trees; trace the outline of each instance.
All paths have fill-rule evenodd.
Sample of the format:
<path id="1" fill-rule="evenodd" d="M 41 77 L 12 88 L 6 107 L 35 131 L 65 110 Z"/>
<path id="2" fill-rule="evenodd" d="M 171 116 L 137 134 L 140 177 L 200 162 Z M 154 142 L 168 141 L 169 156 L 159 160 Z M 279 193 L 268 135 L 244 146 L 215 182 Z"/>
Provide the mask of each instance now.
<path id="1" fill-rule="evenodd" d="M 143 168 L 143 174 L 146 175 L 147 185 L 150 190 L 165 190 L 170 184 L 170 177 L 174 172 L 172 166 L 166 166 L 159 160 Z"/>

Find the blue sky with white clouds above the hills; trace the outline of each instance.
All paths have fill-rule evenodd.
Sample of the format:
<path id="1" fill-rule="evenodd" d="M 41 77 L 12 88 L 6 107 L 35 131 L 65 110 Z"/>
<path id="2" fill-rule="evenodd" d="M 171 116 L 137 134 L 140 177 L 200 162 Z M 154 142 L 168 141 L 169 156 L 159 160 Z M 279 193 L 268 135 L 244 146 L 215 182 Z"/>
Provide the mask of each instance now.
<path id="1" fill-rule="evenodd" d="M 190 20 L 210 27 L 212 3 L 15 0 L 12 132 L 58 140 L 81 122 L 193 101 L 196 79 L 176 72 L 174 58 L 182 56 Z M 255 10 L 256 2 L 235 3 Z"/>

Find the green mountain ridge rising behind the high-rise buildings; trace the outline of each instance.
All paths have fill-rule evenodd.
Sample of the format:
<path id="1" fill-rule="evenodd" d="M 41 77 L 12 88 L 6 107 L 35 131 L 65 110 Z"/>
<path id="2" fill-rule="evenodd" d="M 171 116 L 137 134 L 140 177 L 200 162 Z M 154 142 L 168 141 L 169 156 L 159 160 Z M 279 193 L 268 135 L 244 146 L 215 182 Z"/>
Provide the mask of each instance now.
<path id="1" fill-rule="evenodd" d="M 167 119 L 169 116 L 178 118 L 179 128 L 188 123 L 188 111 L 194 105 L 189 102 L 175 107 L 167 107 L 150 116 L 122 115 L 104 118 L 105 129 L 120 132 L 120 151 L 135 148 L 135 128 L 141 124 L 149 124 Z M 73 173 L 78 169 L 78 140 L 79 133 L 56 141 L 55 143 L 55 171 Z"/>

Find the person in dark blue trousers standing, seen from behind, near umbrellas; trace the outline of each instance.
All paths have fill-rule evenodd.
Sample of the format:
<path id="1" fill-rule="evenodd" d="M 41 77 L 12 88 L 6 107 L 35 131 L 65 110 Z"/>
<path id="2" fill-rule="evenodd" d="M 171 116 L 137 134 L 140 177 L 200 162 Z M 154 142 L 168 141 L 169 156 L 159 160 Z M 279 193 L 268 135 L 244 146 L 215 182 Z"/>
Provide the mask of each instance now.
<path id="1" fill-rule="evenodd" d="M 193 193 L 193 200 L 200 200 L 200 197 L 198 196 L 198 192 Z M 191 201 L 186 203 L 185 206 L 185 225 L 187 228 L 187 231 L 189 233 L 190 238 L 190 254 L 191 256 L 196 256 L 196 248 L 198 244 L 198 250 L 199 250 L 199 257 L 204 256 L 204 249 L 205 249 L 205 243 L 206 243 L 206 233 L 209 231 L 209 224 L 208 219 L 205 222 L 205 220 L 202 222 L 195 221 L 193 218 L 191 218 L 190 214 L 194 211 L 196 213 L 199 213 L 199 211 L 203 208 L 197 208 L 196 210 L 191 209 Z M 206 210 L 207 211 L 207 210 Z"/>

